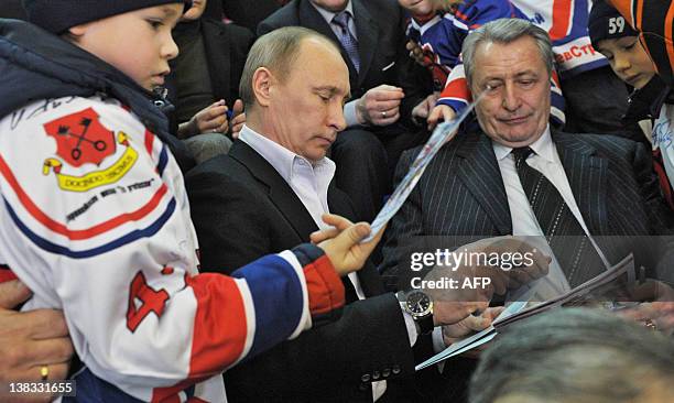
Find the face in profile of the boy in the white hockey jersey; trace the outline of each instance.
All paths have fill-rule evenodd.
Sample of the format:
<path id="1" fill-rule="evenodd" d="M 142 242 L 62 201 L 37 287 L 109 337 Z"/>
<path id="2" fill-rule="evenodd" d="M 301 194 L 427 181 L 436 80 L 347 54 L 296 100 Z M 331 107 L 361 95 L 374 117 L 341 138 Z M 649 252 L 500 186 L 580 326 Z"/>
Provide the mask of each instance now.
<path id="1" fill-rule="evenodd" d="M 75 43 L 119 68 L 143 88 L 164 84 L 178 48 L 171 31 L 183 3 L 140 9 L 70 29 Z"/>

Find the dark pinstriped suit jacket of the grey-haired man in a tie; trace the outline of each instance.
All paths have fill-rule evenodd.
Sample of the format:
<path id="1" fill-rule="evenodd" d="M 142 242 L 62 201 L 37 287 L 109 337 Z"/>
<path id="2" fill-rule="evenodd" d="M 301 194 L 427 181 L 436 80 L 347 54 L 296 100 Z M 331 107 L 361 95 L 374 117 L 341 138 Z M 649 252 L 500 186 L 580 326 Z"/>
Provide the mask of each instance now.
<path id="1" fill-rule="evenodd" d="M 651 156 L 643 144 L 612 135 L 554 131 L 552 138 L 593 236 L 599 236 L 600 240 L 607 236 L 606 242 L 628 242 L 631 236 L 671 233 L 672 211 L 660 195 Z M 398 182 L 417 153 L 415 149 L 403 154 Z M 415 241 L 414 237 L 443 236 L 452 243 L 452 237 L 457 236 L 479 239 L 510 233 L 510 208 L 491 140 L 481 132 L 460 134 L 438 152 L 393 218 L 387 230 L 385 258 L 380 271 L 388 287 L 399 281 L 406 282 L 407 248 L 417 247 L 420 240 Z M 446 247 L 458 247 L 465 241 L 464 238 Z M 612 260 L 624 257 L 633 248 L 629 243 L 627 249 L 598 243 L 617 253 Z M 611 260 L 610 255 L 607 258 Z M 635 258 L 654 269 L 653 253 Z"/>

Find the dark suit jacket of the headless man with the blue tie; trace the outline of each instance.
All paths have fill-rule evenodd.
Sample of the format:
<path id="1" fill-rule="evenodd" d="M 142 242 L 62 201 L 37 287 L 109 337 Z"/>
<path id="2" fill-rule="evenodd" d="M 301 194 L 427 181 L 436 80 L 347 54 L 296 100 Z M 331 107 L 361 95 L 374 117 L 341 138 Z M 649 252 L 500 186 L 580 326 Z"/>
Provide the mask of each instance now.
<path id="1" fill-rule="evenodd" d="M 349 67 L 354 99 L 382 84 L 400 86 L 405 99 L 401 105 L 402 123 L 409 123 L 414 108 L 427 91 L 428 72 L 413 63 L 405 50 L 404 15 L 395 0 L 351 0 L 358 35 L 360 70 L 356 72 L 339 40 L 309 0 L 292 0 L 258 25 L 258 36 L 282 26 L 298 25 L 317 31 L 341 50 Z M 385 72 L 384 67 L 395 63 Z M 374 128 L 370 128 L 374 129 Z"/>

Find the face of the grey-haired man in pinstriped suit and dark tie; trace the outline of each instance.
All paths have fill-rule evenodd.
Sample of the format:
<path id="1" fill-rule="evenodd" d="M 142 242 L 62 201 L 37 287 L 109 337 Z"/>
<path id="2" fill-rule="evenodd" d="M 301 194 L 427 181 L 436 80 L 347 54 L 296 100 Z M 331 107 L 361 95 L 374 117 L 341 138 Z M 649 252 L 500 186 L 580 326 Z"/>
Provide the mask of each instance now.
<path id="1" fill-rule="evenodd" d="M 470 89 L 480 127 L 493 141 L 525 146 L 536 141 L 550 116 L 550 74 L 535 41 L 481 43 L 474 59 Z"/>

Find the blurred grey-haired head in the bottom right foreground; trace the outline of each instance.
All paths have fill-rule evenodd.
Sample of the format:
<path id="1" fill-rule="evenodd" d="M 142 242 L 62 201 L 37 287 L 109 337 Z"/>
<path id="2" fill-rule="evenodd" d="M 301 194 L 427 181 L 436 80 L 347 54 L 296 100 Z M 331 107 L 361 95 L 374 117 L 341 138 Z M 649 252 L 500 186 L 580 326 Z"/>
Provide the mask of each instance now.
<path id="1" fill-rule="evenodd" d="M 606 312 L 562 308 L 508 327 L 470 381 L 470 403 L 627 403 L 674 388 L 674 344 Z"/>

